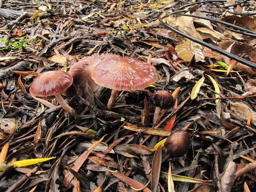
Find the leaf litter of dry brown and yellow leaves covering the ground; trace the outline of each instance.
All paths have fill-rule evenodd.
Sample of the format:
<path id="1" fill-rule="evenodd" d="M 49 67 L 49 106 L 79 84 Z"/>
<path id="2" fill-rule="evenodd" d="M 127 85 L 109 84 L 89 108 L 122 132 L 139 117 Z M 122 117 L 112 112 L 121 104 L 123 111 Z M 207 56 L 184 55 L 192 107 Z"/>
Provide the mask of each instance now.
<path id="1" fill-rule="evenodd" d="M 255 67 L 160 20 L 167 16 L 164 21 L 183 33 L 256 63 L 255 6 L 0 1 L 0 190 L 254 191 Z M 68 72 L 94 53 L 152 62 L 157 81 L 120 92 L 111 110 L 111 90 L 88 87 L 84 97 L 81 87 L 70 87 L 63 97 L 78 118 L 53 98 L 29 94 L 35 76 Z M 177 99 L 154 124 L 150 96 L 157 90 L 177 92 Z M 164 142 L 180 129 L 189 133 L 188 153 L 171 158 Z"/>

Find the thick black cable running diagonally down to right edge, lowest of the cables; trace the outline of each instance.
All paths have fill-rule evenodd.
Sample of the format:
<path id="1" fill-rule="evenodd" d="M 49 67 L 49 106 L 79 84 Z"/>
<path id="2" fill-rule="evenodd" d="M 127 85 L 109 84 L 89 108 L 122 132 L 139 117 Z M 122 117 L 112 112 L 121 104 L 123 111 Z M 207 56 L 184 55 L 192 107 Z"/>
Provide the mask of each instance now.
<path id="1" fill-rule="evenodd" d="M 241 63 L 243 63 L 243 64 L 246 65 L 246 66 L 249 66 L 249 67 L 252 67 L 252 68 L 256 69 L 256 64 L 254 64 L 253 62 L 247 61 L 247 60 L 245 60 L 245 59 L 243 59 L 243 58 L 241 58 L 241 57 L 238 57 L 238 56 L 236 56 L 236 55 L 234 55 L 234 54 L 232 54 L 232 53 L 228 53 L 227 51 L 224 51 L 224 50 L 220 49 L 219 47 L 210 45 L 210 44 L 208 44 L 208 43 L 205 43 L 205 42 L 201 41 L 200 39 L 197 39 L 197 38 L 192 37 L 192 36 L 190 36 L 190 35 L 188 35 L 188 34 L 186 34 L 186 33 L 183 33 L 183 32 L 181 32 L 181 31 L 179 31 L 178 29 L 175 29 L 175 28 L 171 27 L 170 25 L 168 25 L 167 23 L 165 23 L 162 19 L 161 19 L 161 22 L 162 22 L 162 24 L 163 24 L 165 27 L 171 29 L 171 30 L 174 31 L 175 33 L 178 33 L 179 35 L 182 35 L 182 36 L 184 36 L 184 37 L 190 39 L 190 40 L 193 41 L 193 42 L 196 42 L 196 43 L 198 43 L 198 44 L 200 44 L 200 45 L 203 45 L 203 46 L 205 46 L 205 47 L 207 47 L 207 48 L 209 48 L 209 49 L 211 49 L 211 50 L 213 50 L 213 51 L 216 51 L 216 52 L 218 52 L 218 53 L 221 53 L 221 54 L 225 55 L 226 57 L 228 57 L 228 58 L 230 58 L 230 59 L 234 59 L 234 60 L 236 60 L 237 62 L 241 62 Z"/>

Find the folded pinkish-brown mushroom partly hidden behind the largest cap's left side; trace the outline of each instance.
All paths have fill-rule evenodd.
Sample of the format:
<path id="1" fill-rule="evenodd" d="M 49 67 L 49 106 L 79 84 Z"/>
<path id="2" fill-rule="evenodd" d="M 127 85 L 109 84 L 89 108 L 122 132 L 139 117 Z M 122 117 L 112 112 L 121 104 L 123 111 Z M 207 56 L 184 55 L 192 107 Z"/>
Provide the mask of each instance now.
<path id="1" fill-rule="evenodd" d="M 99 85 L 96 84 L 92 79 L 92 73 L 99 63 L 101 62 L 100 54 L 93 54 L 91 56 L 83 57 L 78 62 L 74 63 L 69 70 L 69 74 L 73 77 L 74 82 L 79 84 L 83 93 L 87 93 L 87 83 L 90 86 L 91 90 L 94 90 Z"/>

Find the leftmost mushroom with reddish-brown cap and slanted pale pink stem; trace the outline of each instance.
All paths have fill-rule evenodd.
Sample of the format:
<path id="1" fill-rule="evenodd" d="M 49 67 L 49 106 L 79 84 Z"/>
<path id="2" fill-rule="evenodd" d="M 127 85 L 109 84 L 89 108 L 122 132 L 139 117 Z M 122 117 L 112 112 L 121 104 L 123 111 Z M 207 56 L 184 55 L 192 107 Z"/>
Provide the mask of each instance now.
<path id="1" fill-rule="evenodd" d="M 72 76 L 65 71 L 47 71 L 34 79 L 30 85 L 29 92 L 35 97 L 50 97 L 54 95 L 64 110 L 76 116 L 75 110 L 61 96 L 61 93 L 65 92 L 72 83 Z"/>

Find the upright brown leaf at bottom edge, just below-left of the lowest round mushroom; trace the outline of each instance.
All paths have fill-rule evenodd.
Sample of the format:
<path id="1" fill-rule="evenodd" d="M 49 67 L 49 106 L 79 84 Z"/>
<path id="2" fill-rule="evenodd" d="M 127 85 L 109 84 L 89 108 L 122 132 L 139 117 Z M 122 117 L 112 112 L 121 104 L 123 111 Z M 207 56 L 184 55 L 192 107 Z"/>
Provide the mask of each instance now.
<path id="1" fill-rule="evenodd" d="M 156 192 L 158 189 L 158 182 L 161 172 L 162 164 L 162 147 L 158 146 L 153 157 L 152 169 L 151 169 L 151 190 Z"/>

